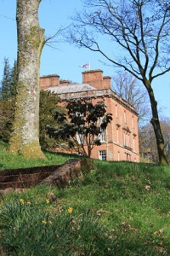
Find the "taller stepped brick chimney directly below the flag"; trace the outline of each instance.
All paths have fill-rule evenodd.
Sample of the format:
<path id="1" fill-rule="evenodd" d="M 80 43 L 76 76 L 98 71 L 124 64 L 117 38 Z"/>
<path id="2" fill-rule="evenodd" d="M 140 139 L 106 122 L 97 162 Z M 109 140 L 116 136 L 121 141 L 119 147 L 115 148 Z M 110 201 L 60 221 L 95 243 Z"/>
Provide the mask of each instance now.
<path id="1" fill-rule="evenodd" d="M 100 69 L 82 72 L 82 84 L 90 84 L 96 89 L 110 89 L 111 77 L 103 77 Z"/>

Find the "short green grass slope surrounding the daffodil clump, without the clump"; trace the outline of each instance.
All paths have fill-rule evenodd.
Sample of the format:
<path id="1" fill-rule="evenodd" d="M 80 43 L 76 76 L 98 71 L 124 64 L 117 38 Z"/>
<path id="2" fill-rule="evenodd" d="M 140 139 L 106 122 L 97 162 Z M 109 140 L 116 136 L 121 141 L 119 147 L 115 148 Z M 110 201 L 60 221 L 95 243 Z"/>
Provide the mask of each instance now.
<path id="1" fill-rule="evenodd" d="M 57 155 L 50 154 L 50 158 L 40 164 L 58 161 Z M 44 210 L 45 198 L 53 192 L 56 200 L 46 206 L 47 211 L 72 207 L 77 215 L 88 211 L 99 218 L 111 238 L 112 253 L 108 251 L 108 255 L 170 255 L 170 167 L 97 160 L 95 165 L 96 171 L 70 188 L 37 187 L 26 194 L 6 195 L 2 203 L 25 198 L 39 201 Z"/>

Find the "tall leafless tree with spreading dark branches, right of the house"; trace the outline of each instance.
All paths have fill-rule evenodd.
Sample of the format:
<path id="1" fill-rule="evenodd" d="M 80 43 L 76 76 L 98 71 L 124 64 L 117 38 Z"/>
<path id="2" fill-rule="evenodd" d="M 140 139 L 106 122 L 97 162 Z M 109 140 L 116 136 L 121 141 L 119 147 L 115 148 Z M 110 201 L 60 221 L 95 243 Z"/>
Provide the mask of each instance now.
<path id="1" fill-rule="evenodd" d="M 87 9 L 73 17 L 70 42 L 99 52 L 145 86 L 150 97 L 160 164 L 167 164 L 152 82 L 170 71 L 170 4 L 161 0 L 86 0 Z M 98 37 L 99 36 L 99 37 Z M 102 39 L 102 40 L 100 40 Z M 110 47 L 104 42 L 109 39 Z M 104 41 L 105 40 L 105 41 Z"/>

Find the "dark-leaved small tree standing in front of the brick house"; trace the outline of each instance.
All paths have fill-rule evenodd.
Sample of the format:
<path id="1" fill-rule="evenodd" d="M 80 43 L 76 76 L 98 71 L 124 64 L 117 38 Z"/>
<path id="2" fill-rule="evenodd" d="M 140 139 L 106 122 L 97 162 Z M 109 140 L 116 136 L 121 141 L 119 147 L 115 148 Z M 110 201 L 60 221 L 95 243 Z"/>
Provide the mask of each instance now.
<path id="1" fill-rule="evenodd" d="M 49 126 L 48 133 L 55 139 L 59 137 L 72 139 L 77 147 L 82 148 L 82 153 L 90 157 L 94 146 L 101 144 L 99 136 L 111 122 L 111 113 L 106 113 L 104 103 L 94 105 L 92 102 L 82 100 L 72 100 L 68 102 L 66 108 L 69 122 L 65 122 L 59 129 Z M 56 119 L 59 119 L 59 115 Z M 88 147 L 88 152 L 85 146 Z"/>

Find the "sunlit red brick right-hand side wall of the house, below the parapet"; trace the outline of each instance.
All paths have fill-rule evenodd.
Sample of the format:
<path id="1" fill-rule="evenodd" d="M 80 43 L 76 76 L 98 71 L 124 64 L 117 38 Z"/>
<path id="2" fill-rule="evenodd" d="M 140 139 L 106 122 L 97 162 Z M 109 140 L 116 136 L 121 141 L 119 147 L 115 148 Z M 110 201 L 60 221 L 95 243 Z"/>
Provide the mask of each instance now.
<path id="1" fill-rule="evenodd" d="M 99 159 L 99 150 L 105 150 L 107 160 L 139 162 L 138 116 L 111 97 L 105 98 L 105 105 L 113 120 L 105 131 L 106 142 L 93 149 L 92 158 Z"/>

